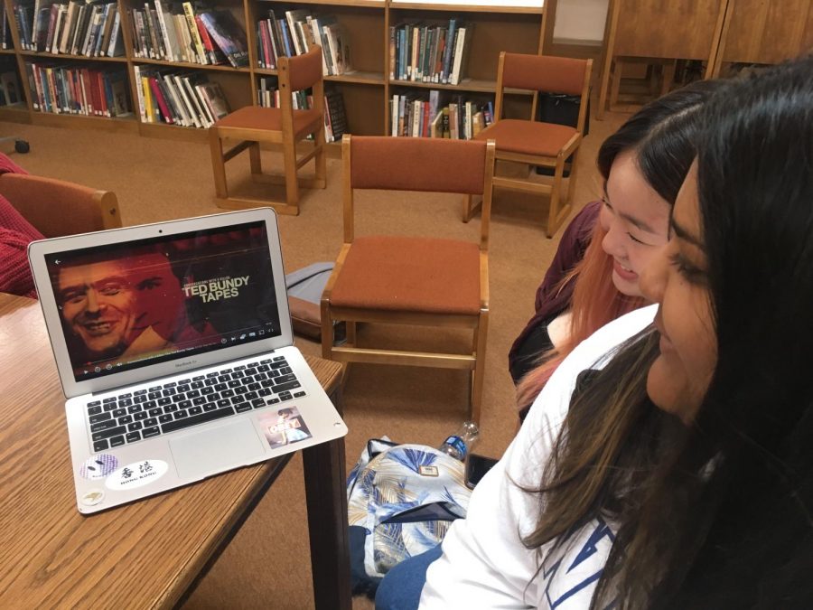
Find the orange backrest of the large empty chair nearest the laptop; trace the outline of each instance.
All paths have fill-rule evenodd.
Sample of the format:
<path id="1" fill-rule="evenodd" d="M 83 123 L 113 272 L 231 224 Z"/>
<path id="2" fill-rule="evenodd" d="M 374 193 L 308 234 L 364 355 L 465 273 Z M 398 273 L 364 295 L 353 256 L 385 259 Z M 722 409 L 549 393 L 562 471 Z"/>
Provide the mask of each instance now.
<path id="1" fill-rule="evenodd" d="M 482 195 L 480 248 L 488 249 L 493 140 L 350 136 L 341 139 L 344 241 L 353 240 L 353 191 L 460 192 Z"/>

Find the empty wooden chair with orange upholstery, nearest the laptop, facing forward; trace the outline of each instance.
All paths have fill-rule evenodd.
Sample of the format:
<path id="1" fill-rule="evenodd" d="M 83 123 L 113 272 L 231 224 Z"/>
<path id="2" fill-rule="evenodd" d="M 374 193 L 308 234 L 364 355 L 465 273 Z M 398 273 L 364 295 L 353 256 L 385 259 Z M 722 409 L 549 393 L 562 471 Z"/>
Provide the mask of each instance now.
<path id="1" fill-rule="evenodd" d="M 481 411 L 489 316 L 489 221 L 494 143 L 410 137 L 344 136 L 344 245 L 322 293 L 322 356 L 472 371 L 470 414 Z M 480 243 L 405 236 L 355 238 L 356 189 L 458 192 L 483 197 Z M 347 345 L 333 345 L 334 320 Z M 472 329 L 471 353 L 361 348 L 356 323 Z"/>

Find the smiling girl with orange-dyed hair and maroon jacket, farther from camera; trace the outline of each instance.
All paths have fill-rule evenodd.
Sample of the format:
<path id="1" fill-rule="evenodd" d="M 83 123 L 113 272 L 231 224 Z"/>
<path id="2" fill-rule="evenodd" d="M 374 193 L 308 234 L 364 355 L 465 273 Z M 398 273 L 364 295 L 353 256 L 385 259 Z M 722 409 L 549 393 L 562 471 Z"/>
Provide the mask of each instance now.
<path id="1" fill-rule="evenodd" d="M 537 290 L 536 313 L 509 352 L 520 418 L 578 343 L 645 305 L 640 271 L 667 241 L 700 109 L 719 87 L 703 80 L 651 102 L 599 149 L 603 201 L 588 203 L 565 230 Z"/>

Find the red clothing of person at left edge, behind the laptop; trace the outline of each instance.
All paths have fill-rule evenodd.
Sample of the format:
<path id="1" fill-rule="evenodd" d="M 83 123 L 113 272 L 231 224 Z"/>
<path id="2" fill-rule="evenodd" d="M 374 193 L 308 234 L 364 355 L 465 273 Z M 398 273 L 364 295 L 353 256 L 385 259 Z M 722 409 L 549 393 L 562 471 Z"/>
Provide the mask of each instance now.
<path id="1" fill-rule="evenodd" d="M 28 174 L 6 155 L 0 154 L 0 174 Z M 44 239 L 19 211 L 0 195 L 0 292 L 36 298 L 31 267 L 28 265 L 28 244 Z"/>

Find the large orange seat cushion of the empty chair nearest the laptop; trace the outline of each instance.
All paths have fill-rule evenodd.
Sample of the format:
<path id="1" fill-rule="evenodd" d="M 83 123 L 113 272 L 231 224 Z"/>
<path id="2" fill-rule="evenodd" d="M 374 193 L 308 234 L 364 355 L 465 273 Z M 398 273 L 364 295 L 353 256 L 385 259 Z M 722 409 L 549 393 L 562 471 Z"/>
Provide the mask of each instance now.
<path id="1" fill-rule="evenodd" d="M 452 239 L 366 236 L 353 241 L 333 286 L 336 307 L 480 313 L 480 248 Z"/>

